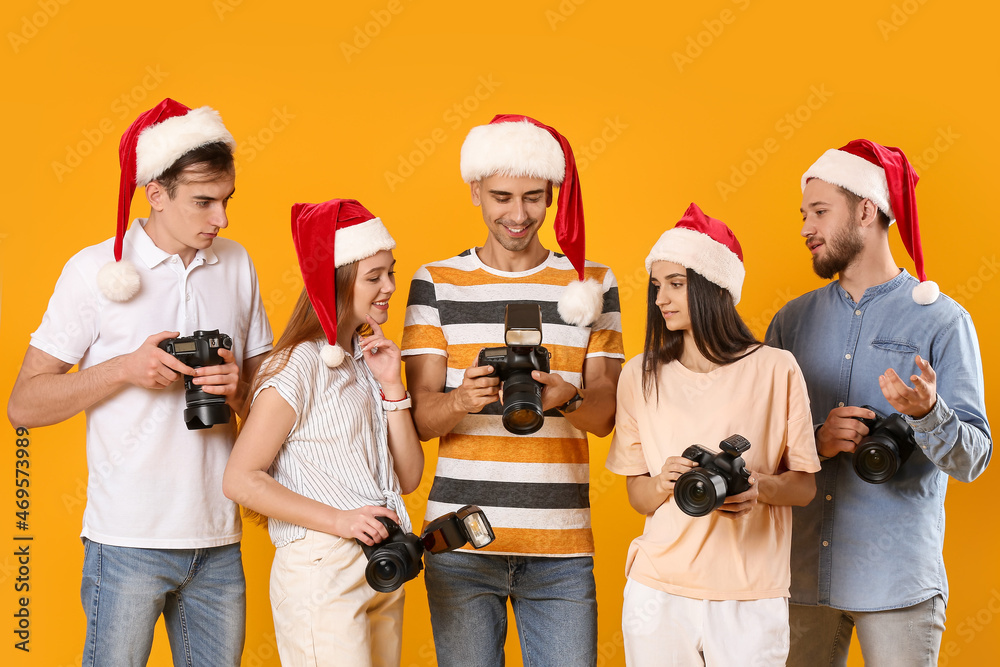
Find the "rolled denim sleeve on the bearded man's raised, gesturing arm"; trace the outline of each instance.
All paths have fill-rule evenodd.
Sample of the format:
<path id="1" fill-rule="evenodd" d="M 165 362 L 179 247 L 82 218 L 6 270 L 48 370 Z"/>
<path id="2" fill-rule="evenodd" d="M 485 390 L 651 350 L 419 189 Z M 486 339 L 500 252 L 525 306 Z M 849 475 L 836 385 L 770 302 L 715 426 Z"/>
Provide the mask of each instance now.
<path id="1" fill-rule="evenodd" d="M 921 419 L 906 417 L 914 440 L 940 470 L 971 482 L 993 455 L 986 420 L 985 383 L 979 341 L 964 309 L 931 344 L 931 367 L 937 376 L 938 400 Z"/>

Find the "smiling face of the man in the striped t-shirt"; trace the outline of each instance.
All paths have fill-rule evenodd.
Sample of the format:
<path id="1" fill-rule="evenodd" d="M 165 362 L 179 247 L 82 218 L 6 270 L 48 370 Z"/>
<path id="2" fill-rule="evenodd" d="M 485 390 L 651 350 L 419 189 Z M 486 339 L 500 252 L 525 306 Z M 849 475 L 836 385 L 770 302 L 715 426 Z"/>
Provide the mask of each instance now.
<path id="1" fill-rule="evenodd" d="M 472 183 L 472 203 L 482 208 L 487 245 L 523 252 L 541 245 L 538 229 L 552 203 L 552 185 L 542 178 L 494 174 Z"/>

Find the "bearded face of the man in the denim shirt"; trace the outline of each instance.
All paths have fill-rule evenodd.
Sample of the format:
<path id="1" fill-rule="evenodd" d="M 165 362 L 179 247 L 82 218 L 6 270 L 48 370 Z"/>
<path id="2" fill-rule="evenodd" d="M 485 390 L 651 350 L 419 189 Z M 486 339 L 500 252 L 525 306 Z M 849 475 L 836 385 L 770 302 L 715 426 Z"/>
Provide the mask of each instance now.
<path id="1" fill-rule="evenodd" d="M 864 249 L 857 206 L 836 185 L 813 178 L 802 191 L 800 210 L 813 271 L 826 280 L 843 273 Z"/>

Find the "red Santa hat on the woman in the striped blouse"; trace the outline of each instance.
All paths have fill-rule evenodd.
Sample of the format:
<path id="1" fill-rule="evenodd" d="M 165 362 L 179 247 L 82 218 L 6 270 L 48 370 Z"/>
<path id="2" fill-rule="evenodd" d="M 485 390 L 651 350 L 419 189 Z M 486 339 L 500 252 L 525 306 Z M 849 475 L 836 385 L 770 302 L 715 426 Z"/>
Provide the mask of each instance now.
<path id="1" fill-rule="evenodd" d="M 381 250 L 392 250 L 396 242 L 382 221 L 354 199 L 295 204 L 292 240 L 309 301 L 326 334 L 328 345 L 320 354 L 328 367 L 335 368 L 345 354 L 337 345 L 336 270 Z"/>

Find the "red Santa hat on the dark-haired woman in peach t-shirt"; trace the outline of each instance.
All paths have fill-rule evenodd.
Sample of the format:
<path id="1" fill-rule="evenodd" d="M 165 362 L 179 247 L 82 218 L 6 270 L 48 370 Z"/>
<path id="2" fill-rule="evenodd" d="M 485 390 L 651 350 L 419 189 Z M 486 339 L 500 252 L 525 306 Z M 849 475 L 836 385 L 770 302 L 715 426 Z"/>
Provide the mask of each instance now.
<path id="1" fill-rule="evenodd" d="M 646 256 L 646 271 L 653 262 L 673 262 L 692 269 L 706 280 L 727 290 L 733 305 L 740 302 L 743 279 L 743 249 L 726 223 L 705 215 L 692 203 L 673 229 L 660 235 Z"/>

